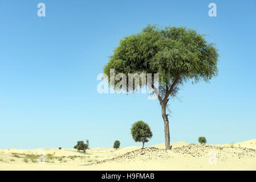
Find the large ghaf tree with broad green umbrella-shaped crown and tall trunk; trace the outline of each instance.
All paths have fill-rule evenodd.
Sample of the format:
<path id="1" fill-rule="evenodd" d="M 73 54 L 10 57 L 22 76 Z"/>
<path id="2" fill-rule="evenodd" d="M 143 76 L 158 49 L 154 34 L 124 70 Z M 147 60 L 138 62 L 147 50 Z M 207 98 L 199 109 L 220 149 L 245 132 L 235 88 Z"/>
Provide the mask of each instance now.
<path id="1" fill-rule="evenodd" d="M 159 89 L 153 79 L 151 87 L 161 105 L 165 148 L 170 149 L 169 114 L 166 114 L 169 98 L 175 97 L 186 81 L 209 82 L 217 76 L 218 56 L 214 44 L 206 42 L 204 35 L 193 29 L 149 25 L 140 33 L 121 39 L 103 71 L 110 77 L 110 69 L 115 69 L 115 75 L 124 73 L 127 78 L 129 73 L 158 73 Z"/>

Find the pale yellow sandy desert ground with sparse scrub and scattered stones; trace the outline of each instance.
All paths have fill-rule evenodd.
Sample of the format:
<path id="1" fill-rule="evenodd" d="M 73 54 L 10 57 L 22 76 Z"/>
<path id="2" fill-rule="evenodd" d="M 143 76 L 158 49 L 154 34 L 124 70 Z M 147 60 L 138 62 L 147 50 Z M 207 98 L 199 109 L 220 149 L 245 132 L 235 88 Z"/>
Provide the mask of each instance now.
<path id="1" fill-rule="evenodd" d="M 146 147 L 0 149 L 0 170 L 256 170 L 256 139 L 234 144 L 186 142 Z M 45 163 L 38 163 L 45 154 Z"/>

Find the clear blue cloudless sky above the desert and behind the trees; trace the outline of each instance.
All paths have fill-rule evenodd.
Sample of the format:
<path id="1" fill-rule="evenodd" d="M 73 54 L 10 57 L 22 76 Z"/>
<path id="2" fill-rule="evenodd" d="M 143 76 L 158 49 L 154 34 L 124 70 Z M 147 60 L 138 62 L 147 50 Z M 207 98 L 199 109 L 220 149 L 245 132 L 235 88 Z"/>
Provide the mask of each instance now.
<path id="1" fill-rule="evenodd" d="M 46 17 L 37 5 L 46 5 Z M 208 5 L 217 5 L 217 17 Z M 210 84 L 185 84 L 170 101 L 172 142 L 256 138 L 256 1 L 0 1 L 0 148 L 140 146 L 133 122 L 164 143 L 159 101 L 99 94 L 96 77 L 119 39 L 147 24 L 208 34 L 221 55 Z"/>

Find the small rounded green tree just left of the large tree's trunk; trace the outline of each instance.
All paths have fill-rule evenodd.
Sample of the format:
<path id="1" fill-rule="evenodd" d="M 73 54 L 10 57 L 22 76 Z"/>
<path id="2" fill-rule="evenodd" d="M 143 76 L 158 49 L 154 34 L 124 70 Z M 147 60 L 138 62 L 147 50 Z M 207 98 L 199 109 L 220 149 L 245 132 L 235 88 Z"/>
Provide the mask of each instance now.
<path id="1" fill-rule="evenodd" d="M 132 124 L 131 128 L 132 138 L 135 142 L 143 142 L 144 143 L 149 141 L 149 138 L 153 136 L 150 127 L 147 123 L 143 121 L 137 121 Z"/>

